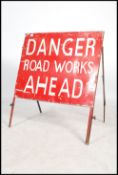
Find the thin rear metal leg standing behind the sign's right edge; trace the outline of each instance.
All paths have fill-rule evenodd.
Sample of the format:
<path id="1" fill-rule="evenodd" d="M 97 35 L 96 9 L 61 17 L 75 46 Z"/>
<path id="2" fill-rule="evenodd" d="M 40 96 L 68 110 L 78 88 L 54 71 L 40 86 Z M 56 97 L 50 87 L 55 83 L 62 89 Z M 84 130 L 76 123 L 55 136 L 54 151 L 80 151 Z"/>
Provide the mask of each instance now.
<path id="1" fill-rule="evenodd" d="M 105 107 L 106 107 L 106 97 L 105 97 L 105 74 L 104 74 L 104 50 L 102 48 L 102 82 L 103 82 L 103 122 L 105 122 Z"/>

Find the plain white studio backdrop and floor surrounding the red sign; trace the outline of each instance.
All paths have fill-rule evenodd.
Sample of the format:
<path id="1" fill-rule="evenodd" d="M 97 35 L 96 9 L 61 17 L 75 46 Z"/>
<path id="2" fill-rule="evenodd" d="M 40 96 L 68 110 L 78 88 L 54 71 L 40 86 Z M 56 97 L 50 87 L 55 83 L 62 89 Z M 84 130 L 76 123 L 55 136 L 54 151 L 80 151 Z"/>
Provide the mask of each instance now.
<path id="1" fill-rule="evenodd" d="M 41 102 L 39 116 L 34 101 L 17 99 L 9 129 L 25 33 L 99 30 L 105 31 L 106 123 L 100 72 L 91 144 L 83 143 L 88 109 L 77 106 Z M 2 2 L 2 109 L 3 174 L 116 173 L 116 2 Z"/>

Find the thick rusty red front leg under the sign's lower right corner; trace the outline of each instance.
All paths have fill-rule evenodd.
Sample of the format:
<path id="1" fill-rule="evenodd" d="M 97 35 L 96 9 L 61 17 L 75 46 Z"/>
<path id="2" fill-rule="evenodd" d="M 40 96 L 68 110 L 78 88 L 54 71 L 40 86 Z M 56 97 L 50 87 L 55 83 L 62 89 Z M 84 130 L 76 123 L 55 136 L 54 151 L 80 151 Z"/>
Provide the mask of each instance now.
<path id="1" fill-rule="evenodd" d="M 87 133 L 86 133 L 86 141 L 85 141 L 86 144 L 89 144 L 89 141 L 90 141 L 92 119 L 93 119 L 93 107 L 90 107 L 88 125 L 87 125 Z"/>

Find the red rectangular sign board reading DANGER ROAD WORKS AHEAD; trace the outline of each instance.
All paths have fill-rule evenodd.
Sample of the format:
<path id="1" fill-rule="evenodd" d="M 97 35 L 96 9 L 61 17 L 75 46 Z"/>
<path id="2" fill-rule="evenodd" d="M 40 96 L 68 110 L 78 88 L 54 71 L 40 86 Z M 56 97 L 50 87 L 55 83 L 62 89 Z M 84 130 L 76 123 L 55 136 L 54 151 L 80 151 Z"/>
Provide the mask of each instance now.
<path id="1" fill-rule="evenodd" d="M 92 106 L 103 35 L 103 32 L 27 34 L 15 95 Z"/>

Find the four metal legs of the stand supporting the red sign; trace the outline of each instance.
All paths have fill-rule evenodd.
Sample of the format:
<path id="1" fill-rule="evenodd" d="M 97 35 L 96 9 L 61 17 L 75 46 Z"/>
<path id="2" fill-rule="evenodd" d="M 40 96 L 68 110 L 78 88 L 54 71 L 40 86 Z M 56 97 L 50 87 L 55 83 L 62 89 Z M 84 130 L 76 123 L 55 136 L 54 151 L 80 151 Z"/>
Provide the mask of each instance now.
<path id="1" fill-rule="evenodd" d="M 106 98 L 105 98 L 105 73 L 104 73 L 104 49 L 103 49 L 103 47 L 102 47 L 102 82 L 103 82 L 103 122 L 105 122 Z M 12 125 L 13 111 L 14 111 L 14 106 L 15 106 L 15 99 L 16 99 L 16 97 L 15 97 L 15 93 L 14 93 L 13 101 L 12 101 L 12 104 L 11 104 L 9 127 L 11 127 L 11 125 Z M 94 100 L 94 102 L 95 102 L 95 100 Z M 37 101 L 37 105 L 38 105 L 40 113 L 42 113 L 39 101 Z M 92 107 L 90 107 L 90 111 L 89 111 L 88 125 L 87 125 L 87 132 L 86 132 L 86 140 L 85 140 L 86 144 L 89 144 L 89 141 L 90 141 L 92 120 L 94 119 L 93 111 L 94 111 L 94 105 Z"/>

